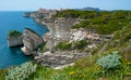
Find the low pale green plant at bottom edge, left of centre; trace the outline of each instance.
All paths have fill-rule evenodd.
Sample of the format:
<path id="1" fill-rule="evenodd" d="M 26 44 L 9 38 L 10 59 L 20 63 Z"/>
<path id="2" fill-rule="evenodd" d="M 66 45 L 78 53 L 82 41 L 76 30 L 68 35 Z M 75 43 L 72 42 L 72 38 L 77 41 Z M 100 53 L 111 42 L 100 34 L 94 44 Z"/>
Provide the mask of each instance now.
<path id="1" fill-rule="evenodd" d="M 58 74 L 56 72 L 50 80 L 69 80 L 66 74 Z"/>

